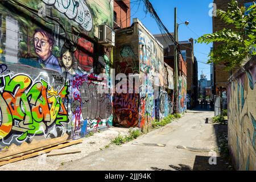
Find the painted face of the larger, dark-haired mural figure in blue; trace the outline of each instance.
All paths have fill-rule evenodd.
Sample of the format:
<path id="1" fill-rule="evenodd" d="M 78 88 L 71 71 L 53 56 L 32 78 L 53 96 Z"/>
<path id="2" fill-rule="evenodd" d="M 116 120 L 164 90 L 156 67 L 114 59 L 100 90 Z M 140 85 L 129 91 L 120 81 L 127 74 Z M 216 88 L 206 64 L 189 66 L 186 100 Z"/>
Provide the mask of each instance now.
<path id="1" fill-rule="evenodd" d="M 48 42 L 48 37 L 42 32 L 36 32 L 35 39 L 35 51 L 36 54 L 43 60 L 46 60 L 51 55 L 52 45 Z"/>

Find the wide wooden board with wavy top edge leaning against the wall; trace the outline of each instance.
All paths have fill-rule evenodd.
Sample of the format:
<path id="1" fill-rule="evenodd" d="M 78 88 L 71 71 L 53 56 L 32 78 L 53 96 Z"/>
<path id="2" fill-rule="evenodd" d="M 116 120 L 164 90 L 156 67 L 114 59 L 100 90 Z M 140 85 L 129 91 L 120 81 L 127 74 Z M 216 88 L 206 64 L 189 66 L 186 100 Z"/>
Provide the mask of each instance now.
<path id="1" fill-rule="evenodd" d="M 65 142 L 68 139 L 68 134 L 64 134 L 63 137 L 57 137 L 52 139 L 46 139 L 46 140 L 32 140 L 30 144 L 27 142 L 23 142 L 20 146 L 16 146 L 15 144 L 12 144 L 9 147 L 8 151 L 0 152 L 0 159 L 6 158 L 9 156 L 13 156 L 16 154 L 24 153 L 27 151 L 35 150 L 36 148 L 42 148 L 51 146 L 52 144 L 57 144 L 61 142 Z"/>

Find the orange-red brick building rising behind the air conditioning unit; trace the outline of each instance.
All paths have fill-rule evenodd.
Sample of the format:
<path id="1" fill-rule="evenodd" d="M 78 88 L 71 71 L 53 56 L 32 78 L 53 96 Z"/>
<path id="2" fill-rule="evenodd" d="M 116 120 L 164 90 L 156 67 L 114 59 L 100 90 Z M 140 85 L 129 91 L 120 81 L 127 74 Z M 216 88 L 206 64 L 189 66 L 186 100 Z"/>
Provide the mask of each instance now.
<path id="1" fill-rule="evenodd" d="M 130 0 L 114 0 L 114 28 L 126 28 L 130 24 Z"/>

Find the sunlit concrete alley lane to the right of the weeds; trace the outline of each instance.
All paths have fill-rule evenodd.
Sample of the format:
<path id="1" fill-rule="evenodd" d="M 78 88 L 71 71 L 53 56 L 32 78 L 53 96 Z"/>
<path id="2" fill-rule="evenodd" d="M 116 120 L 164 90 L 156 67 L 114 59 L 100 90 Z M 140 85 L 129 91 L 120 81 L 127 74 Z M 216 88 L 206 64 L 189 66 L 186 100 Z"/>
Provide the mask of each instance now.
<path id="1" fill-rule="evenodd" d="M 191 110 L 169 125 L 122 146 L 112 146 L 64 163 L 58 170 L 228 170 L 215 152 L 220 125 L 205 123 L 213 111 Z M 154 146 L 154 144 L 163 144 Z M 217 165 L 211 156 L 216 156 Z"/>

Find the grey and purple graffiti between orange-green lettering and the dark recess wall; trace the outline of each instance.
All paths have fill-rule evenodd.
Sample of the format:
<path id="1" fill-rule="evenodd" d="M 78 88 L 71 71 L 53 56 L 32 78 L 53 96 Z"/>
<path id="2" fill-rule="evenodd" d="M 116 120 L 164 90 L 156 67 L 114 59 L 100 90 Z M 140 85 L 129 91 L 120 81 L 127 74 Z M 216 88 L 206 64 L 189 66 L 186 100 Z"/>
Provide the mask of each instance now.
<path id="1" fill-rule="evenodd" d="M 106 127 L 109 119 L 112 120 L 111 96 L 98 93 L 98 87 L 102 86 L 102 83 L 95 79 L 93 75 L 77 75 L 73 79 L 71 104 L 73 138 L 80 138 L 90 130 Z"/>

